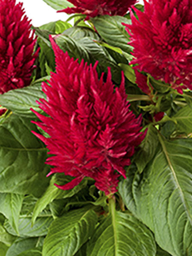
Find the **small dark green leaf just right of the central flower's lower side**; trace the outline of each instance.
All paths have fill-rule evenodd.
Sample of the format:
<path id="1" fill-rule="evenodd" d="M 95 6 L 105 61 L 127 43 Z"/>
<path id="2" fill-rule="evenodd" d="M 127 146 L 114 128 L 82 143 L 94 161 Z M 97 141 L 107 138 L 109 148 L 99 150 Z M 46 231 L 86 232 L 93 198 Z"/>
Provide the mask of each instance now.
<path id="1" fill-rule="evenodd" d="M 134 161 L 140 173 L 143 172 L 145 166 L 153 159 L 159 143 L 157 129 L 152 124 L 147 129 L 145 140 L 140 145 L 141 149 L 137 152 Z"/>

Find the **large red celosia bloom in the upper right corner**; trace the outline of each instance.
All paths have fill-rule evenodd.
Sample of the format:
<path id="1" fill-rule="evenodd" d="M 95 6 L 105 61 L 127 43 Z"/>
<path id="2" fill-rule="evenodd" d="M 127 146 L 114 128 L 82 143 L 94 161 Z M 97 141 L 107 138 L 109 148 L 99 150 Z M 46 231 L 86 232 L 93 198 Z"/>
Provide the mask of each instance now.
<path id="1" fill-rule="evenodd" d="M 182 93 L 192 90 L 192 0 L 144 0 L 127 31 L 136 57 L 131 63 Z"/>

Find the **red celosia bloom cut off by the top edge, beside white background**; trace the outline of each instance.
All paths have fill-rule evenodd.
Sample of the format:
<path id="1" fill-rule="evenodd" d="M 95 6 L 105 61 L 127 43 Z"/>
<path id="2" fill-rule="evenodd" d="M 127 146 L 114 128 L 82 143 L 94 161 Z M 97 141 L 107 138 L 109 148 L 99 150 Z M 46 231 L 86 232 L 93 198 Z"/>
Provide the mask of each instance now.
<path id="1" fill-rule="evenodd" d="M 82 13 L 89 17 L 97 15 L 120 15 L 128 12 L 128 8 L 135 4 L 137 0 L 69 0 L 75 7 L 66 8 L 58 12 Z"/>

